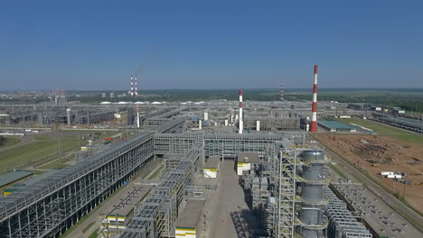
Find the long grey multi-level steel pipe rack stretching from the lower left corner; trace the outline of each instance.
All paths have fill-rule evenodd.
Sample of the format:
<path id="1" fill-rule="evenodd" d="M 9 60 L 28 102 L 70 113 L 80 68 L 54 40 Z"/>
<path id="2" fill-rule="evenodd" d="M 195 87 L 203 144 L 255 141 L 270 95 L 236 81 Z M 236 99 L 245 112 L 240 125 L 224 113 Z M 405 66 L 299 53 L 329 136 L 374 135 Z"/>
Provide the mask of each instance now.
<path id="1" fill-rule="evenodd" d="M 112 194 L 150 160 L 153 135 L 181 131 L 183 118 L 0 198 L 0 237 L 56 237 Z"/>

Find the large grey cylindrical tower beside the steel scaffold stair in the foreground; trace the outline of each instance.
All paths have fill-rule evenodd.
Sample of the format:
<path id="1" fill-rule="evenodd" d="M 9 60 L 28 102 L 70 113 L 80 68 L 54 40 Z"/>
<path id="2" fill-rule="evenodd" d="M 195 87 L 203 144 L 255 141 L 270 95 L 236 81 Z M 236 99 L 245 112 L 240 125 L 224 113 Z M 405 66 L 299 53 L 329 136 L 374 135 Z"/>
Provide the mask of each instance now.
<path id="1" fill-rule="evenodd" d="M 303 151 L 303 166 L 299 176 L 301 208 L 299 220 L 303 237 L 324 237 L 327 219 L 324 216 L 326 178 L 324 151 Z"/>

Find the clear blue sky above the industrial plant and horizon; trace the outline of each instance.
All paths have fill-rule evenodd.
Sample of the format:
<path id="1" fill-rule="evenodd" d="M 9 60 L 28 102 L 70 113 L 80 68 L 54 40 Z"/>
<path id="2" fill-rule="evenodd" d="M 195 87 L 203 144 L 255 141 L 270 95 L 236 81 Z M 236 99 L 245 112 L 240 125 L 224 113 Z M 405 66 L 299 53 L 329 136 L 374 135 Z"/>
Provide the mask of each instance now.
<path id="1" fill-rule="evenodd" d="M 423 87 L 423 1 L 1 1 L 0 90 Z"/>

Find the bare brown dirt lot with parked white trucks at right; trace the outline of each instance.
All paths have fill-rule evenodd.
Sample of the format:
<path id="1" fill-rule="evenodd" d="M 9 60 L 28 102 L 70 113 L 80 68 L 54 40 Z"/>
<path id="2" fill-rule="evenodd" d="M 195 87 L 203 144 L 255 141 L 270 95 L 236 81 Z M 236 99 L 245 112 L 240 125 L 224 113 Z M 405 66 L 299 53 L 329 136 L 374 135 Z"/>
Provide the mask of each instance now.
<path id="1" fill-rule="evenodd" d="M 411 206 L 423 211 L 423 144 L 404 142 L 386 136 L 317 134 L 316 138 L 344 159 L 366 170 L 392 191 L 404 196 Z M 378 173 L 392 171 L 406 173 L 412 185 L 401 184 Z"/>

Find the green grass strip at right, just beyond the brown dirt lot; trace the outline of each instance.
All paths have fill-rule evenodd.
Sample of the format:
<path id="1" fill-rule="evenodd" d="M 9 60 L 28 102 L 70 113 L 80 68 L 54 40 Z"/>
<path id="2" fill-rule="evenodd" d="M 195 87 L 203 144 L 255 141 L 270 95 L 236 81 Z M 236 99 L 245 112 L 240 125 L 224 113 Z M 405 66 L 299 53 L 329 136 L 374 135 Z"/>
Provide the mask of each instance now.
<path id="1" fill-rule="evenodd" d="M 416 133 L 410 133 L 402 129 L 397 129 L 390 125 L 380 124 L 369 120 L 362 120 L 361 118 L 336 119 L 336 121 L 345 124 L 359 124 L 363 127 L 373 130 L 373 132 L 380 135 L 390 136 L 407 142 L 423 142 L 423 136 L 420 136 Z"/>

